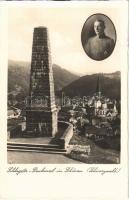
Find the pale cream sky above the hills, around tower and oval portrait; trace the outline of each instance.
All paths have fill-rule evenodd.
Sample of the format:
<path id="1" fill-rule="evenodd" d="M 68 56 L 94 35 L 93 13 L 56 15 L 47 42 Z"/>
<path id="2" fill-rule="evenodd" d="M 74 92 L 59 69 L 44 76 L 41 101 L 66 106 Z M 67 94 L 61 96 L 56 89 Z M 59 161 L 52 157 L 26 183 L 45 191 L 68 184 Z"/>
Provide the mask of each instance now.
<path id="1" fill-rule="evenodd" d="M 115 50 L 104 61 L 93 61 L 81 44 L 81 30 L 94 13 L 110 16 L 119 33 Z M 113 7 L 12 7 L 9 9 L 9 59 L 31 61 L 33 29 L 46 26 L 49 30 L 52 62 L 76 73 L 113 72 L 120 70 L 119 48 L 121 27 L 119 9 Z M 119 29 L 119 30 L 118 30 Z M 119 37 L 118 37 L 119 36 Z"/>

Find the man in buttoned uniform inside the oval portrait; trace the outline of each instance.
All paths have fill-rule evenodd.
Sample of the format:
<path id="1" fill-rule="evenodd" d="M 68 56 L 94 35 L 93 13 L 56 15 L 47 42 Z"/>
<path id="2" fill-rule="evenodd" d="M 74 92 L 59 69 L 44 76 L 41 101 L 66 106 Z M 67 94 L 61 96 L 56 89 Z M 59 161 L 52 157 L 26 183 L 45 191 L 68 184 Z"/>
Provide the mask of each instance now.
<path id="1" fill-rule="evenodd" d="M 109 57 L 114 49 L 114 40 L 104 33 L 105 24 L 102 20 L 94 22 L 96 36 L 89 38 L 84 49 L 87 55 L 94 60 L 104 60 Z"/>

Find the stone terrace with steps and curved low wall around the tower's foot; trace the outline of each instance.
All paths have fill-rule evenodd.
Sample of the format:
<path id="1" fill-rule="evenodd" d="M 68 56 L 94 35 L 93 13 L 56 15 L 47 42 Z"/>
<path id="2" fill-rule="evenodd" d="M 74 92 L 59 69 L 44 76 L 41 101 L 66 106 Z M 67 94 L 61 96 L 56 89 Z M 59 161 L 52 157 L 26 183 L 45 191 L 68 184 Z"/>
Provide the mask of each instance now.
<path id="1" fill-rule="evenodd" d="M 73 136 L 73 126 L 67 122 L 58 122 L 58 133 L 56 133 L 55 137 L 34 136 L 34 132 L 27 132 L 26 129 L 22 130 L 22 125 L 23 124 L 19 124 L 9 131 L 8 150 L 19 151 L 21 149 L 24 151 L 37 151 L 39 150 L 37 149 L 37 146 L 44 147 L 45 150 L 52 146 L 56 149 L 67 150 L 69 142 Z"/>

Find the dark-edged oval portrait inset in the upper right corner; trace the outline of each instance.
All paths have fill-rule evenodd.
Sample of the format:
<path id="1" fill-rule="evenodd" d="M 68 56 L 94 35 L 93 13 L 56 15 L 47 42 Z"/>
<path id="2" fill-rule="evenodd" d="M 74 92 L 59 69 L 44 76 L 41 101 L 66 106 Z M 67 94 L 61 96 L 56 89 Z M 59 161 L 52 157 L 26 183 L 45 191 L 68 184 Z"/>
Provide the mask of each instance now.
<path id="1" fill-rule="evenodd" d="M 116 44 L 116 30 L 113 22 L 104 14 L 91 15 L 82 28 L 82 46 L 93 60 L 108 58 Z"/>

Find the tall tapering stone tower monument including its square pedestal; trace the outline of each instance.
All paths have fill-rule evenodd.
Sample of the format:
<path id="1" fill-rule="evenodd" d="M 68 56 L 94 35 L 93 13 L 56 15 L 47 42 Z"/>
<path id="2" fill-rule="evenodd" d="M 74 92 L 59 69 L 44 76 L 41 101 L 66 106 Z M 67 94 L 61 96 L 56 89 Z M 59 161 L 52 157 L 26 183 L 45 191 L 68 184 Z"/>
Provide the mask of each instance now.
<path id="1" fill-rule="evenodd" d="M 54 137 L 57 133 L 57 108 L 46 27 L 34 28 L 26 131 L 30 136 L 35 133 Z"/>

